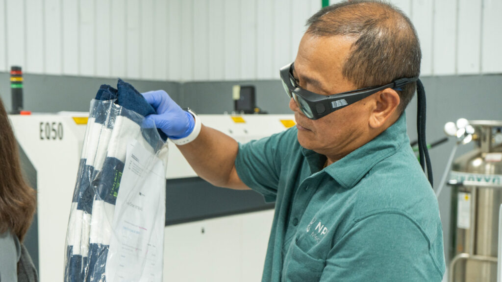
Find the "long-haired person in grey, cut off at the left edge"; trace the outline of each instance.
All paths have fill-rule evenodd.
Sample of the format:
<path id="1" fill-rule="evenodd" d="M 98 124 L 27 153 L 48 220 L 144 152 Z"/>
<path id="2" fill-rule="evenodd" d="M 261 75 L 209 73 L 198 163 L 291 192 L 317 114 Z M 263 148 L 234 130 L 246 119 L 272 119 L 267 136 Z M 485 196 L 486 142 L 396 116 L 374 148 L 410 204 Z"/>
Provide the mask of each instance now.
<path id="1" fill-rule="evenodd" d="M 21 173 L 11 123 L 0 99 L 0 281 L 38 281 L 23 245 L 36 210 L 36 192 Z"/>

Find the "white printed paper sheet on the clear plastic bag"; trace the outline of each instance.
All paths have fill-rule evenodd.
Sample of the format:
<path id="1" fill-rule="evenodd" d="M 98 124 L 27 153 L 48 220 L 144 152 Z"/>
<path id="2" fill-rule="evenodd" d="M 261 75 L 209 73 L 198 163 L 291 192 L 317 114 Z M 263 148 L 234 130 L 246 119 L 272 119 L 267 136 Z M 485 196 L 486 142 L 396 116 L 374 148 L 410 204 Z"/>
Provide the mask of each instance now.
<path id="1" fill-rule="evenodd" d="M 137 140 L 128 145 L 124 165 L 106 260 L 106 281 L 162 281 L 165 168 Z"/>

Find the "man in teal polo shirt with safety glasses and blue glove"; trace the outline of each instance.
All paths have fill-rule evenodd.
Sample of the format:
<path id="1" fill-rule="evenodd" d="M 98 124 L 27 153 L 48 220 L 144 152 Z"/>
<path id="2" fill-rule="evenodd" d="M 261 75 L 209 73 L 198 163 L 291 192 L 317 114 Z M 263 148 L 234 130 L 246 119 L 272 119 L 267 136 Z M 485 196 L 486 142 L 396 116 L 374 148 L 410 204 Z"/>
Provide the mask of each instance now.
<path id="1" fill-rule="evenodd" d="M 438 204 L 406 134 L 421 58 L 410 20 L 351 1 L 307 25 L 281 69 L 296 127 L 237 144 L 163 91 L 144 94 L 149 118 L 203 179 L 276 202 L 263 281 L 441 281 Z"/>

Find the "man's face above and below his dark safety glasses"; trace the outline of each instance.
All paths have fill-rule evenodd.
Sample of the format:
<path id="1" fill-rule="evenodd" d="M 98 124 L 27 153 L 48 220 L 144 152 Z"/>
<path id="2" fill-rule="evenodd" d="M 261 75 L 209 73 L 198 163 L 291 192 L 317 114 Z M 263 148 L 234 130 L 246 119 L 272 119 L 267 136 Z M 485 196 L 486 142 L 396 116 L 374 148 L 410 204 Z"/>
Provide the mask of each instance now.
<path id="1" fill-rule="evenodd" d="M 294 76 L 300 87 L 314 93 L 331 95 L 357 87 L 342 75 L 352 39 L 343 36 L 319 37 L 305 34 L 295 60 Z M 368 97 L 369 98 L 369 97 Z M 302 147 L 336 161 L 357 149 L 366 136 L 370 109 L 365 98 L 320 119 L 308 119 L 293 99 L 298 142 Z"/>

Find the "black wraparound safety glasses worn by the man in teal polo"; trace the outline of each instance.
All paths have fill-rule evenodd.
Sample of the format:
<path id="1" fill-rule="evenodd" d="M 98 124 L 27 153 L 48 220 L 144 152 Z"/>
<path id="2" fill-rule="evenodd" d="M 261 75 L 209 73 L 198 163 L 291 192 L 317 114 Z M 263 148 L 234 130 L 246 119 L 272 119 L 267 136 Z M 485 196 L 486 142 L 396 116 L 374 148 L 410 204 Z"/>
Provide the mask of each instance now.
<path id="1" fill-rule="evenodd" d="M 332 95 L 321 95 L 300 88 L 293 76 L 293 70 L 294 62 L 287 64 L 280 70 L 284 90 L 286 90 L 286 93 L 288 93 L 290 98 L 295 100 L 303 114 L 310 119 L 319 119 L 334 112 L 335 110 L 362 100 L 371 94 L 382 91 L 386 88 L 400 88 L 410 82 L 417 81 L 418 79 L 400 78 L 382 86 L 361 88 Z"/>

